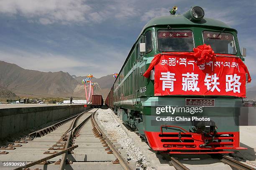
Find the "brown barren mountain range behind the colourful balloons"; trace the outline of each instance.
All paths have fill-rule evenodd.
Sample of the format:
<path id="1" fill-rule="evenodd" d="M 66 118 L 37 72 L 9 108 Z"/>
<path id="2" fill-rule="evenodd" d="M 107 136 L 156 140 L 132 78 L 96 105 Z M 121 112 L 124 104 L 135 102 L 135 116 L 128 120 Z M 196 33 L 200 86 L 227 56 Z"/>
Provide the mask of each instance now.
<path id="1" fill-rule="evenodd" d="M 18 96 L 28 97 L 70 97 L 85 98 L 82 79 L 68 72 L 41 72 L 28 70 L 18 65 L 0 61 L 0 89 L 8 89 Z M 94 94 L 105 98 L 115 78 L 106 75 L 93 78 Z"/>

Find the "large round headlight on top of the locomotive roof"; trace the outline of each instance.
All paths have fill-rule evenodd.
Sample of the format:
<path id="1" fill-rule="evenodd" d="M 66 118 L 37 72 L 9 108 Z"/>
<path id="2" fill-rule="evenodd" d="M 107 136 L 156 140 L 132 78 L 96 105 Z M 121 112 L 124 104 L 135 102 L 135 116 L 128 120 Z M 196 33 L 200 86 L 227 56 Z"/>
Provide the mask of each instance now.
<path id="1" fill-rule="evenodd" d="M 189 20 L 199 21 L 205 16 L 205 11 L 202 7 L 191 7 L 186 13 L 183 14 Z"/>

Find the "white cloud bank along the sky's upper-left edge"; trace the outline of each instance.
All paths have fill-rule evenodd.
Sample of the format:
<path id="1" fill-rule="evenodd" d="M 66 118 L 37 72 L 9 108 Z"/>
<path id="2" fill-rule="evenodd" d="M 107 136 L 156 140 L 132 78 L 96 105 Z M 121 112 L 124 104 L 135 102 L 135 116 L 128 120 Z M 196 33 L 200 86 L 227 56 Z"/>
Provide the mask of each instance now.
<path id="1" fill-rule="evenodd" d="M 138 10 L 132 4 L 125 0 L 110 0 L 109 3 L 86 0 L 0 0 L 0 13 L 21 15 L 28 18 L 30 23 L 44 25 L 89 21 L 101 23 L 106 19 L 123 20 L 138 15 Z"/>

